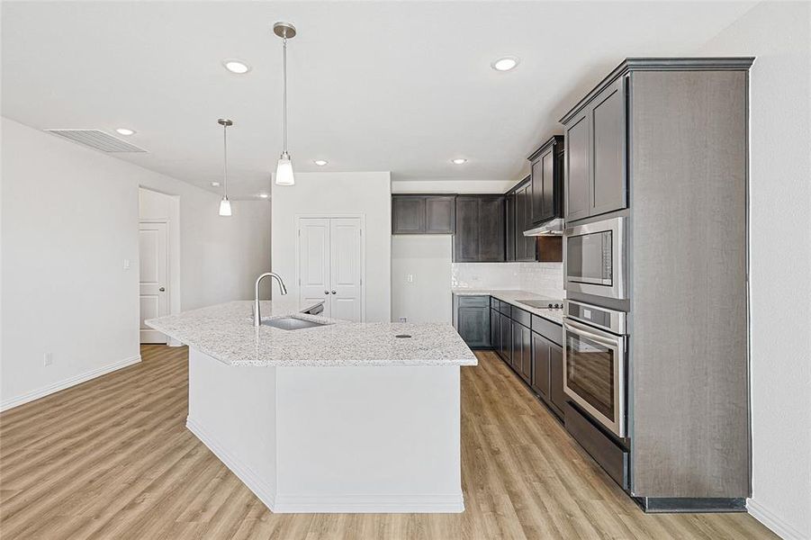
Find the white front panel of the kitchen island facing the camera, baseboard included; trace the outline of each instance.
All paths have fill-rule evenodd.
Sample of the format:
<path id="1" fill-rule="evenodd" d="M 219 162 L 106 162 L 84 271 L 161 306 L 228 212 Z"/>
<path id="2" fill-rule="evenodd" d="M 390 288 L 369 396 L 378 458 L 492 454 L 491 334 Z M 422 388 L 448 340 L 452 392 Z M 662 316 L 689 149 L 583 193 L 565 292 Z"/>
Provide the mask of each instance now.
<path id="1" fill-rule="evenodd" d="M 278 368 L 275 511 L 463 511 L 459 369 Z"/>

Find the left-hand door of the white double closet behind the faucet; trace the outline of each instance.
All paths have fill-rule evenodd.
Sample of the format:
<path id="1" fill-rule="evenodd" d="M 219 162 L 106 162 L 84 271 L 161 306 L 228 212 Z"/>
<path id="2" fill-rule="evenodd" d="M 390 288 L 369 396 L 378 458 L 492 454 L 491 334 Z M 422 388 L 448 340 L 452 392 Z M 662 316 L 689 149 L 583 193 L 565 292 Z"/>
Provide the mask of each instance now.
<path id="1" fill-rule="evenodd" d="M 299 300 L 323 300 L 324 316 L 329 317 L 329 220 L 301 220 L 298 235 Z"/>

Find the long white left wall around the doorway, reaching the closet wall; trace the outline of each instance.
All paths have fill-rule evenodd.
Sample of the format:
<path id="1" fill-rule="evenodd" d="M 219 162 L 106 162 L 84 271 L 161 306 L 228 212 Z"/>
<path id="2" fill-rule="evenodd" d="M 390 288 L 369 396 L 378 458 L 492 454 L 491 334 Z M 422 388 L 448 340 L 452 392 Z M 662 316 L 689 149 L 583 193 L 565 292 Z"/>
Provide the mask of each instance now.
<path id="1" fill-rule="evenodd" d="M 180 197 L 182 309 L 252 296 L 266 202 L 220 218 L 215 193 L 16 121 L 2 131 L 0 408 L 138 361 L 140 185 Z"/>

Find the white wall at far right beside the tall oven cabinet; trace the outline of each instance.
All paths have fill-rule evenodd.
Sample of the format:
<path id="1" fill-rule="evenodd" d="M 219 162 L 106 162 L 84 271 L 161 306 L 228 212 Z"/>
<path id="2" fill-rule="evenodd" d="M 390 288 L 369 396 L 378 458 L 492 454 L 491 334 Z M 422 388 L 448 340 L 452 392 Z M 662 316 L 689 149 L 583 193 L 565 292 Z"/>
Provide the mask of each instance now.
<path id="1" fill-rule="evenodd" d="M 811 538 L 811 4 L 758 4 L 695 52 L 757 57 L 749 508 L 786 538 Z"/>

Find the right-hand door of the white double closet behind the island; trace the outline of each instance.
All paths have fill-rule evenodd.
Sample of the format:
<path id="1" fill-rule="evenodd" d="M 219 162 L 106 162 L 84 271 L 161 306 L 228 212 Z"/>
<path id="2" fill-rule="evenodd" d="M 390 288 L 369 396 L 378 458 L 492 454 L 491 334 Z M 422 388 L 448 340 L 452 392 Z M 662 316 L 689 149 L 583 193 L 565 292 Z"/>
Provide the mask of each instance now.
<path id="1" fill-rule="evenodd" d="M 357 218 L 329 220 L 329 260 L 332 315 L 361 320 L 361 229 Z"/>

